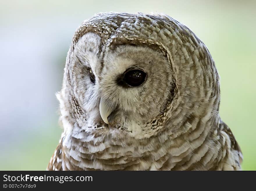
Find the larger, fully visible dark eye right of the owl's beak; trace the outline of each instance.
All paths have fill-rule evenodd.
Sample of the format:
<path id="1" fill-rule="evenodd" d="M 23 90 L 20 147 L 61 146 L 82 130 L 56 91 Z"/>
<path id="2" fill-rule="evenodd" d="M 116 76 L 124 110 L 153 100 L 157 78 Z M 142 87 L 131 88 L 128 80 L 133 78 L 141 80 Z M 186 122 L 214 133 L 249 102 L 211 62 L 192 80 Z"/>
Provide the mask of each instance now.
<path id="1" fill-rule="evenodd" d="M 131 87 L 137 87 L 145 82 L 147 74 L 140 69 L 128 69 L 123 81 Z"/>

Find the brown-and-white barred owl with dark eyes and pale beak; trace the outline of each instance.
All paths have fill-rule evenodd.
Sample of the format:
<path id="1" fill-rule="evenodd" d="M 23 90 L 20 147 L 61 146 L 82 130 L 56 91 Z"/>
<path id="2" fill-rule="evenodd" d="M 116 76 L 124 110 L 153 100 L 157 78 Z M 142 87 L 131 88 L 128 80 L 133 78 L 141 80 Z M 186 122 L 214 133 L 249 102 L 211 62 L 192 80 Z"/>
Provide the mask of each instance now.
<path id="1" fill-rule="evenodd" d="M 240 170 L 219 116 L 205 44 L 161 14 L 100 13 L 74 33 L 57 94 L 59 144 L 47 170 Z"/>

